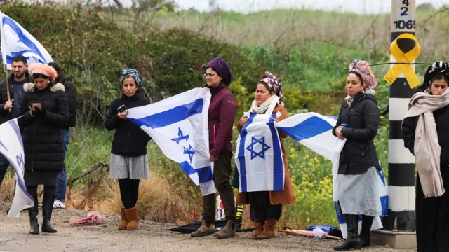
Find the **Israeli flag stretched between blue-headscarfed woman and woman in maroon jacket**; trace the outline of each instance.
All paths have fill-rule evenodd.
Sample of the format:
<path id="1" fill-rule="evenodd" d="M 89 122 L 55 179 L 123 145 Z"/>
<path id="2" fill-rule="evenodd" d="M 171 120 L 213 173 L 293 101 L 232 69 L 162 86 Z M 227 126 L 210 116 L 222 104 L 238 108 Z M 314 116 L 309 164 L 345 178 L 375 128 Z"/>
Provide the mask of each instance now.
<path id="1" fill-rule="evenodd" d="M 128 109 L 128 118 L 201 186 L 203 195 L 216 192 L 213 162 L 209 160 L 210 97 L 206 88 L 194 88 L 154 104 Z"/>

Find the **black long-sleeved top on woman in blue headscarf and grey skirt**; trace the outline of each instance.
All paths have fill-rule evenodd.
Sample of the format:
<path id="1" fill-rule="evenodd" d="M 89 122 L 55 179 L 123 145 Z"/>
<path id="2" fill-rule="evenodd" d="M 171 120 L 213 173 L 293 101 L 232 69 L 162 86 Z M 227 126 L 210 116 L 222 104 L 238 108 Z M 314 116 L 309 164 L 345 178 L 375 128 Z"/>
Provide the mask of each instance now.
<path id="1" fill-rule="evenodd" d="M 125 105 L 127 109 L 149 104 L 146 99 L 138 94 L 133 97 L 122 97 L 114 99 L 106 118 L 107 130 L 115 130 L 114 140 L 112 141 L 111 153 L 124 157 L 139 157 L 147 154 L 147 144 L 151 137 L 145 133 L 138 125 L 130 120 L 120 119 L 117 116 L 117 109 Z"/>

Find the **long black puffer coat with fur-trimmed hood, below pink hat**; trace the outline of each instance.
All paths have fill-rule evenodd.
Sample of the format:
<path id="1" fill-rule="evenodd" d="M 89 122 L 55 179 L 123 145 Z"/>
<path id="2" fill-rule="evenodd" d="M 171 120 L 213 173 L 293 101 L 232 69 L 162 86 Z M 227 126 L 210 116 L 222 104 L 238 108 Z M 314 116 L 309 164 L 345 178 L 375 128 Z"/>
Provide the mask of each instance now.
<path id="1" fill-rule="evenodd" d="M 23 85 L 25 91 L 18 119 L 25 151 L 26 172 L 60 172 L 64 155 L 61 126 L 69 119 L 69 103 L 64 85 L 56 84 L 45 90 L 32 83 Z M 31 104 L 41 103 L 46 111 L 43 117 L 29 115 Z"/>

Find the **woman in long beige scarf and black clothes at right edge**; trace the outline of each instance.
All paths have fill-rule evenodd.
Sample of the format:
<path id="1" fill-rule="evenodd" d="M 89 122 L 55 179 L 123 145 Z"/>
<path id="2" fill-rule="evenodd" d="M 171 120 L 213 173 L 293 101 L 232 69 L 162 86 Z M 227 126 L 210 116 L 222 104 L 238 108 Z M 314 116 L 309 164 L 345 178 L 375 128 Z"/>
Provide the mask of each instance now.
<path id="1" fill-rule="evenodd" d="M 418 252 L 449 251 L 449 65 L 429 66 L 402 123 L 404 145 L 415 155 Z"/>

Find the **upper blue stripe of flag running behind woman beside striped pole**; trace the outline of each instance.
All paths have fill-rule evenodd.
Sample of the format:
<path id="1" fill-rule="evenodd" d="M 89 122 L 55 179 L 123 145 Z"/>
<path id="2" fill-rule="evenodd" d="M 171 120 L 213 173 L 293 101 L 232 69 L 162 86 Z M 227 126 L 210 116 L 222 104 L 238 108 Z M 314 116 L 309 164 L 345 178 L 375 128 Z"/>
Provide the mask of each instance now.
<path id="1" fill-rule="evenodd" d="M 332 130 L 332 125 L 330 125 L 326 120 L 323 120 L 317 116 L 312 116 L 303 120 L 298 125 L 293 127 L 279 127 L 279 130 L 293 137 L 296 141 L 301 141 L 304 139 L 309 139 L 310 137 L 315 137 L 316 135 Z"/>

